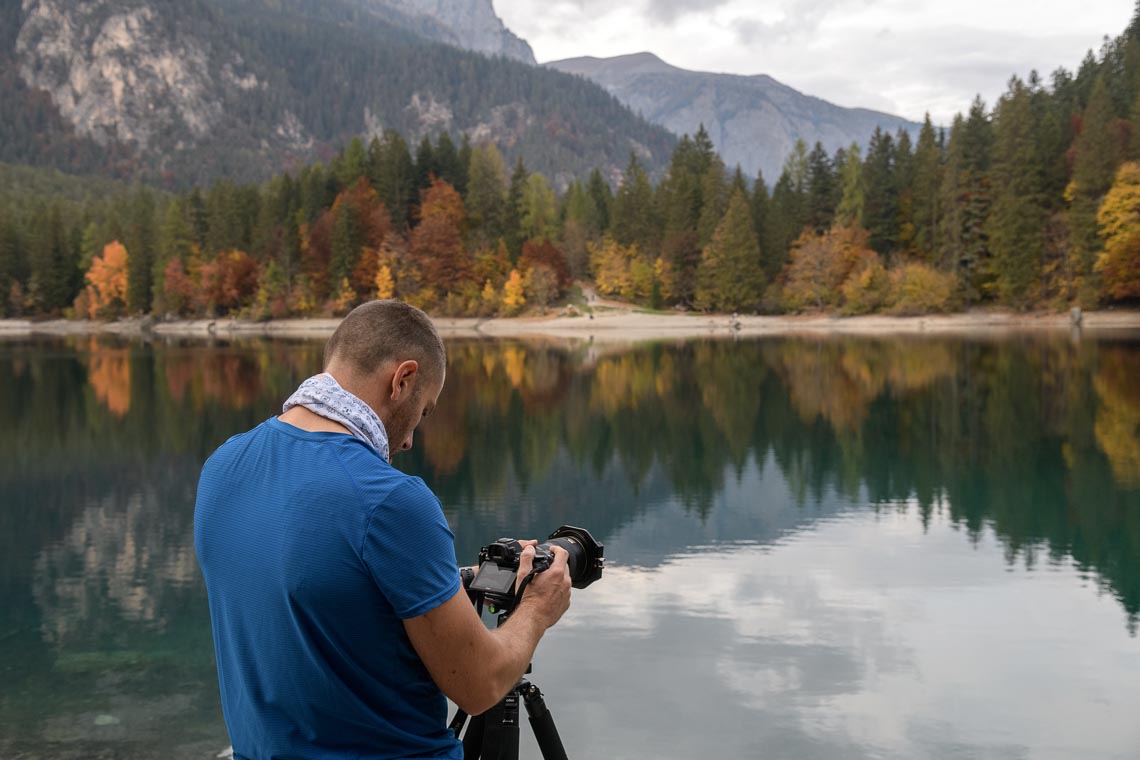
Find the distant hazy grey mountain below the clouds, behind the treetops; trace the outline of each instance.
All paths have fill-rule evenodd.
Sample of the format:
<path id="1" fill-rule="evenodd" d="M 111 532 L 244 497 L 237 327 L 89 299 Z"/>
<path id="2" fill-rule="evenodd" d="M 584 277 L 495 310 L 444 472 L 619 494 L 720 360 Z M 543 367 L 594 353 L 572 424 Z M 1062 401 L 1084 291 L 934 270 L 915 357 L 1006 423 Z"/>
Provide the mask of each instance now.
<path id="1" fill-rule="evenodd" d="M 621 103 L 675 134 L 708 130 L 720 157 L 750 177 L 775 182 L 798 138 L 829 152 L 853 141 L 866 145 L 876 126 L 917 132 L 898 116 L 844 108 L 798 92 L 771 76 L 692 72 L 650 52 L 614 58 L 568 58 L 545 64 L 597 82 Z"/>

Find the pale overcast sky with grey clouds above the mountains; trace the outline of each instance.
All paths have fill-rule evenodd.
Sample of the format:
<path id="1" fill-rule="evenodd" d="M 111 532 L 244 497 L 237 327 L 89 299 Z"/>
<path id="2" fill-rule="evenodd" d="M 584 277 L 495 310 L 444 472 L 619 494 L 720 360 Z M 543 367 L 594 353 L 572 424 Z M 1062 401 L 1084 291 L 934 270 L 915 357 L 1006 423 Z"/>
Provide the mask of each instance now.
<path id="1" fill-rule="evenodd" d="M 1074 70 L 1133 0 L 494 0 L 539 62 L 649 50 L 939 123 L 1012 74 Z M 1047 77 L 1048 79 L 1048 77 Z"/>

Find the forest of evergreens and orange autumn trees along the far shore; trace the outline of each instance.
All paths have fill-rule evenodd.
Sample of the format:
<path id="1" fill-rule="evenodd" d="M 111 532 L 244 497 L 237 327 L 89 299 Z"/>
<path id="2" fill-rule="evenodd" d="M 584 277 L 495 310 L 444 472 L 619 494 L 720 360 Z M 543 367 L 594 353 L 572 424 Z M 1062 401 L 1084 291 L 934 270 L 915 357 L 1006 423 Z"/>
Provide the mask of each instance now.
<path id="1" fill-rule="evenodd" d="M 948 126 L 796 146 L 769 186 L 703 129 L 557 182 L 490 142 L 394 130 L 264 185 L 144 186 L 0 211 L 7 316 L 341 314 L 372 297 L 513 316 L 576 280 L 651 309 L 844 314 L 1140 297 L 1140 18 L 1075 73 L 1012 77 Z"/>

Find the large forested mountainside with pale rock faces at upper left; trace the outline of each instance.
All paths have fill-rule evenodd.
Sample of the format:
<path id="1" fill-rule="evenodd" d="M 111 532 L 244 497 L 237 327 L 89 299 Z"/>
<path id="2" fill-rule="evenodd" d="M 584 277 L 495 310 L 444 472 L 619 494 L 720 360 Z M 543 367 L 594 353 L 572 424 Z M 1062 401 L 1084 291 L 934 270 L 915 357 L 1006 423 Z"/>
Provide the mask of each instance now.
<path id="1" fill-rule="evenodd" d="M 518 58 L 489 0 L 0 0 L 0 161 L 178 188 L 394 129 L 495 141 L 555 185 L 667 162 L 665 129 Z"/>

